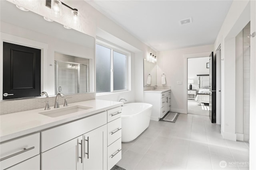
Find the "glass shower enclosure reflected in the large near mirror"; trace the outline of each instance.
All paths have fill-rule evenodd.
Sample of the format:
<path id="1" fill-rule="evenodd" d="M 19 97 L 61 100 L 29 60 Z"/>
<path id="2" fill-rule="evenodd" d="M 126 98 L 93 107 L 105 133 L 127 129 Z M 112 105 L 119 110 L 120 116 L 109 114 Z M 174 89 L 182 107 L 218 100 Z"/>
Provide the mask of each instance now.
<path id="1" fill-rule="evenodd" d="M 65 61 L 54 61 L 55 94 L 89 92 L 88 65 Z"/>

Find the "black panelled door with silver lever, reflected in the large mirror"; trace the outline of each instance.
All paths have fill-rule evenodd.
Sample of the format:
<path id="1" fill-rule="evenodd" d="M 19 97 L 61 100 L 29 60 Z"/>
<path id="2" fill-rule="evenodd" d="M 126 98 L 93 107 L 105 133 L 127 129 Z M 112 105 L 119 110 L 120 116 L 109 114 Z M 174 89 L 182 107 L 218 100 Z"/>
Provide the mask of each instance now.
<path id="1" fill-rule="evenodd" d="M 3 100 L 40 96 L 41 50 L 4 42 Z"/>

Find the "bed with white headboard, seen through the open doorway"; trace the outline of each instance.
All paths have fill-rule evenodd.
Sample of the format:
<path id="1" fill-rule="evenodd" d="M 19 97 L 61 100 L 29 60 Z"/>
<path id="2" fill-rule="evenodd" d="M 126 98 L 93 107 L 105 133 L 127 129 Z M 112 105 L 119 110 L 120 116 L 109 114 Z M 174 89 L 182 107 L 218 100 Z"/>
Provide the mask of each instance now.
<path id="1" fill-rule="evenodd" d="M 209 103 L 209 74 L 197 75 L 198 76 L 198 93 L 196 95 L 195 100 L 198 105 L 202 105 L 202 103 Z"/>

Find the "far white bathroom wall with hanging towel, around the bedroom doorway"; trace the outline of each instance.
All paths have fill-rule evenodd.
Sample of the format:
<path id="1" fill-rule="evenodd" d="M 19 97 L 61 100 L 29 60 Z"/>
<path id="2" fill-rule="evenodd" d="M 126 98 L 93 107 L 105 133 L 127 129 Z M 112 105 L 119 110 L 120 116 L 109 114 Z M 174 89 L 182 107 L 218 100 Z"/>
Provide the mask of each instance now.
<path id="1" fill-rule="evenodd" d="M 184 55 L 192 53 L 203 53 L 213 50 L 213 45 L 204 45 L 185 49 L 176 49 L 170 51 L 160 51 L 156 55 L 157 59 L 157 85 L 161 84 L 161 74 L 166 75 L 166 85 L 171 86 L 171 111 L 178 113 L 186 113 L 186 91 L 187 84 L 184 83 Z M 210 55 L 210 53 L 208 54 Z M 206 55 L 205 57 L 207 57 Z M 206 66 L 206 64 L 205 64 Z M 185 74 L 186 75 L 186 74 Z M 178 85 L 177 81 L 182 81 L 182 85 Z"/>

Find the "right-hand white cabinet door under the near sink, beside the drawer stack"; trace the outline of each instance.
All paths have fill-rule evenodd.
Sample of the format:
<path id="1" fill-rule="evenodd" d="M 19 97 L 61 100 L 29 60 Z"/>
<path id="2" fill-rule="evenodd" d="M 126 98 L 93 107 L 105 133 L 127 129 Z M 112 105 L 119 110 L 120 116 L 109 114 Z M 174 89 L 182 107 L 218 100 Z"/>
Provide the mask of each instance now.
<path id="1" fill-rule="evenodd" d="M 107 168 L 107 125 L 98 127 L 83 135 L 84 170 Z"/>

